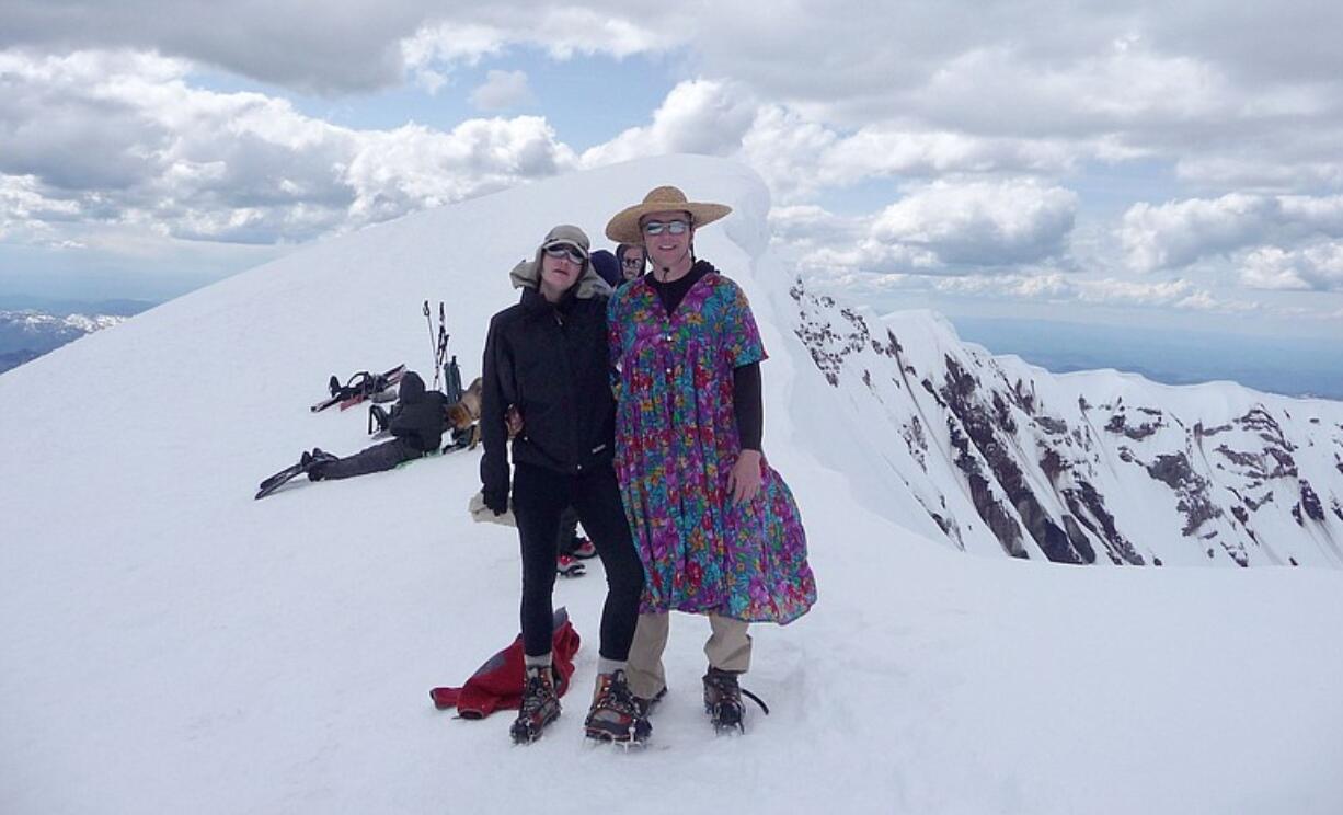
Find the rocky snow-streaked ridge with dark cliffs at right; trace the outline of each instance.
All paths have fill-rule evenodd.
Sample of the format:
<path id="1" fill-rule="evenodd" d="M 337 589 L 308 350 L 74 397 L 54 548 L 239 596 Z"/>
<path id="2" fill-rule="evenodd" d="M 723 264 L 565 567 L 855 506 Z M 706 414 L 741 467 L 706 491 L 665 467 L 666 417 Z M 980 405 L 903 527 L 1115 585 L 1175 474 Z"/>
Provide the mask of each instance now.
<path id="1" fill-rule="evenodd" d="M 874 482 L 915 494 L 958 548 L 1343 567 L 1343 403 L 1054 376 L 960 342 L 928 311 L 877 318 L 800 283 L 791 294 L 798 337 L 860 418 Z"/>

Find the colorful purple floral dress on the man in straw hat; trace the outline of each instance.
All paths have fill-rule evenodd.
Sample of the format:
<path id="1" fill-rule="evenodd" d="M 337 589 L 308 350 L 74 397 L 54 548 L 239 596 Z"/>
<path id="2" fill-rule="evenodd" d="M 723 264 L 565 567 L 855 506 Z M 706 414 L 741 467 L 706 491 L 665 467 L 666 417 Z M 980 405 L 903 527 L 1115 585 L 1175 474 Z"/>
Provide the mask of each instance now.
<path id="1" fill-rule="evenodd" d="M 611 298 L 608 325 L 615 471 L 647 573 L 642 610 L 775 623 L 806 614 L 817 588 L 788 486 L 761 461 L 753 501 L 728 490 L 740 451 L 732 371 L 766 358 L 745 294 L 710 271 L 669 317 L 639 279 Z"/>

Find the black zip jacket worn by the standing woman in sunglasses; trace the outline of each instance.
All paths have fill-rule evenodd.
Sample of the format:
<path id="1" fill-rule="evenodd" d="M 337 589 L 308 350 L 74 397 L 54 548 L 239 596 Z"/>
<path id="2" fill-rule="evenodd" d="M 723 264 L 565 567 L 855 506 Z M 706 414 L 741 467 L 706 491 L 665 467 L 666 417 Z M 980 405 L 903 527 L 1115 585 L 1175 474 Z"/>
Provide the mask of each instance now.
<path id="1" fill-rule="evenodd" d="M 524 423 L 513 439 L 513 463 L 576 475 L 614 455 L 606 297 L 577 298 L 575 289 L 557 303 L 526 289 L 522 302 L 490 320 L 481 367 L 481 483 L 492 508 L 508 499 L 509 405 Z"/>

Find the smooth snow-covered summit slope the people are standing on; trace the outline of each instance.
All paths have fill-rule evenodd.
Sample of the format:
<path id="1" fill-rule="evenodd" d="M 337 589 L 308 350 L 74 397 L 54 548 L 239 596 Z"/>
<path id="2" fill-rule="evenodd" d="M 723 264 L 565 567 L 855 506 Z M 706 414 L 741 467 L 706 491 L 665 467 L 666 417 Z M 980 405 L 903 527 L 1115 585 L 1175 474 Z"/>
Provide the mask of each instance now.
<path id="1" fill-rule="evenodd" d="M 761 322 L 766 447 L 821 602 L 756 627 L 745 685 L 772 714 L 740 738 L 705 724 L 706 627 L 678 618 L 655 741 L 622 755 L 580 737 L 602 579 L 561 583 L 579 690 L 513 748 L 506 714 L 426 696 L 517 630 L 516 540 L 469 521 L 471 455 L 251 494 L 305 447 L 365 443 L 363 416 L 306 405 L 333 372 L 427 369 L 424 298 L 473 376 L 533 242 L 559 222 L 598 236 L 665 183 L 736 208 L 698 250 Z M 874 435 L 880 403 L 830 387 L 794 336 L 767 209 L 735 164 L 606 168 L 313 246 L 0 376 L 0 812 L 1343 811 L 1340 572 L 935 542 L 933 482 L 901 482 L 920 446 L 884 443 L 889 420 Z M 974 509 L 947 509 L 980 546 Z"/>

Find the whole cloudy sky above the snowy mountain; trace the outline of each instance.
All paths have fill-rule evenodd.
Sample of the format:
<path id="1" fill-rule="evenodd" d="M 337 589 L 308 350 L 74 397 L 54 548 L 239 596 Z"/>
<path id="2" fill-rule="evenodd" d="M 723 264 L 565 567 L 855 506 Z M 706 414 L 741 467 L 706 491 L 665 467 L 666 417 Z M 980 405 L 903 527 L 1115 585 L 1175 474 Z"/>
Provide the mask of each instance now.
<path id="1" fill-rule="evenodd" d="M 1324 0 L 0 0 L 0 293 L 169 297 L 689 152 L 878 310 L 1328 341 L 1340 31 Z"/>

